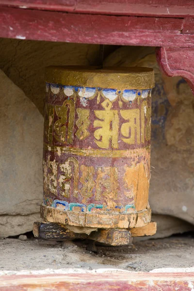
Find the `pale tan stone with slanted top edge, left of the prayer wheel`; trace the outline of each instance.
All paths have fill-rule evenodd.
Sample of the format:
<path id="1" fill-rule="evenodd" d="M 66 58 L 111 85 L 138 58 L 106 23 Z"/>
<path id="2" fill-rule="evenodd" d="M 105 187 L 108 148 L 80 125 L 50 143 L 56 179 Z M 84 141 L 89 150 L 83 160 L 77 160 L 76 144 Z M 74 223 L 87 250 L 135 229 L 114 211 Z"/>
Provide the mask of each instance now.
<path id="1" fill-rule="evenodd" d="M 0 215 L 39 211 L 42 199 L 43 117 L 0 71 Z"/>

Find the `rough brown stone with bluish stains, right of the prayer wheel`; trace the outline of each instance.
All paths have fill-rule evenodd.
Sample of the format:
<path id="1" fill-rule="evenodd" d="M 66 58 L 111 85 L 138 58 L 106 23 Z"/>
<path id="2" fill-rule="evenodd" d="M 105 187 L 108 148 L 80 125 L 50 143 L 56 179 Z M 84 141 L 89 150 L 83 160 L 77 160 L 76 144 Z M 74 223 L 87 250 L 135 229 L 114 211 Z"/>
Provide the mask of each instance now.
<path id="1" fill-rule="evenodd" d="M 121 47 L 105 65 L 154 68 L 150 206 L 152 213 L 194 224 L 194 97 L 189 85 L 162 75 L 154 48 Z"/>

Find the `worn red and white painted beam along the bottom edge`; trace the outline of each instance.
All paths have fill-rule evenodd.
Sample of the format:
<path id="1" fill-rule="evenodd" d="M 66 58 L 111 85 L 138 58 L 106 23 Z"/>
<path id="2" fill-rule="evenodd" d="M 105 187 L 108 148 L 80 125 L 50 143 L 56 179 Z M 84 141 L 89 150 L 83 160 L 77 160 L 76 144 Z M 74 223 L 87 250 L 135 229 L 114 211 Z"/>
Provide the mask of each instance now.
<path id="1" fill-rule="evenodd" d="M 194 273 L 104 273 L 0 276 L 0 291 L 193 291 Z"/>

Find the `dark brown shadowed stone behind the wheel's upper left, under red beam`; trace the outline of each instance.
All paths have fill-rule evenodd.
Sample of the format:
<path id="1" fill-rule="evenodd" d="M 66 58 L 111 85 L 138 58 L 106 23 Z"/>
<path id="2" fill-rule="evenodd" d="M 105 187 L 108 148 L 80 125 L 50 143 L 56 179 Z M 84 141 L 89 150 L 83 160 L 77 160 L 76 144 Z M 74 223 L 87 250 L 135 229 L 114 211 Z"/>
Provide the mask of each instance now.
<path id="1" fill-rule="evenodd" d="M 98 45 L 0 38 L 0 68 L 44 112 L 45 67 L 94 65 Z"/>

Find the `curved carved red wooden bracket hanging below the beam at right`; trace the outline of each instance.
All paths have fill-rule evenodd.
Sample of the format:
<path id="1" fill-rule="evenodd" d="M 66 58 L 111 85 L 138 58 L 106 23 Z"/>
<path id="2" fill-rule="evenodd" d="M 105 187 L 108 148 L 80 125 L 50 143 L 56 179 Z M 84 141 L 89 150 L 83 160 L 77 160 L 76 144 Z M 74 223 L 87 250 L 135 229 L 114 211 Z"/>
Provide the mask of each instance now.
<path id="1" fill-rule="evenodd" d="M 194 94 L 194 49 L 157 48 L 156 58 L 162 72 L 169 77 L 181 76 Z"/>

